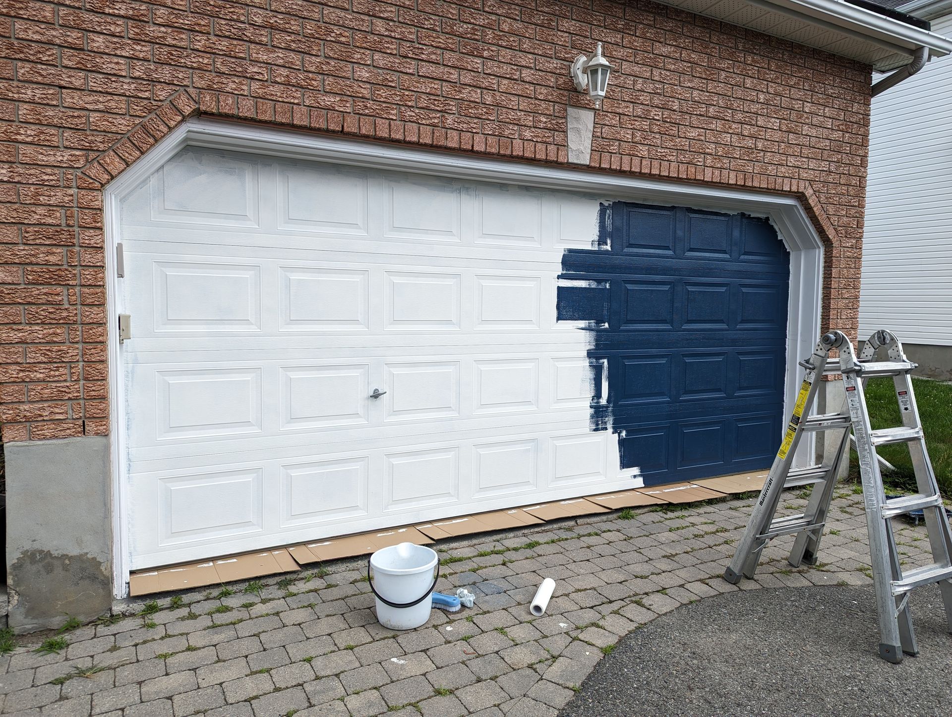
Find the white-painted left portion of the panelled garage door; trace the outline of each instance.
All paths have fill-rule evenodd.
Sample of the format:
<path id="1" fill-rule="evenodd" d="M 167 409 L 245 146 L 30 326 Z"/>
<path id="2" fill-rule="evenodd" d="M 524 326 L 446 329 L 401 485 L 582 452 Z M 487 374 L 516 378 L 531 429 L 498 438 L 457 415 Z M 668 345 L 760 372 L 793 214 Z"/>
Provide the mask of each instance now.
<path id="1" fill-rule="evenodd" d="M 131 567 L 639 485 L 556 321 L 599 204 L 208 149 L 155 171 L 116 232 Z"/>

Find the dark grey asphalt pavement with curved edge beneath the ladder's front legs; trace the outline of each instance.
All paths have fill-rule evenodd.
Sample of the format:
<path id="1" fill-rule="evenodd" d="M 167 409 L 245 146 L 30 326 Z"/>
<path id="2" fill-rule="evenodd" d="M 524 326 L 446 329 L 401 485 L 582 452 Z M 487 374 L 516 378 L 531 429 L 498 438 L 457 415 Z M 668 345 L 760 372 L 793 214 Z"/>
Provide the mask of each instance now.
<path id="1" fill-rule="evenodd" d="M 936 586 L 910 599 L 920 655 L 878 656 L 872 588 L 744 590 L 627 635 L 560 717 L 952 715 L 952 635 Z"/>

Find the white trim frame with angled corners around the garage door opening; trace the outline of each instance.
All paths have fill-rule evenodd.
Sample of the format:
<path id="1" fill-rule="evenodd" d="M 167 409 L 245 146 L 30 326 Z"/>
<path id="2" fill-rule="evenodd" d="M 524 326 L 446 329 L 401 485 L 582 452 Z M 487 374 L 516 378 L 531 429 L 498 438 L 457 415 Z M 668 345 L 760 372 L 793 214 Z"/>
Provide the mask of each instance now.
<path id="1" fill-rule="evenodd" d="M 684 205 L 695 209 L 744 211 L 769 217 L 790 250 L 790 298 L 787 315 L 787 375 L 784 413 L 792 407 L 800 383 L 797 362 L 809 354 L 820 334 L 823 296 L 823 242 L 800 202 L 789 195 L 664 182 L 625 175 L 564 169 L 487 159 L 429 149 L 347 140 L 302 131 L 259 127 L 206 118 L 191 119 L 169 132 L 105 192 L 107 309 L 109 332 L 109 430 L 112 459 L 114 594 L 124 597 L 129 582 L 128 496 L 122 490 L 125 461 L 125 406 L 119 353 L 119 291 L 115 266 L 119 201 L 171 156 L 186 146 L 228 149 L 295 159 L 319 160 L 370 169 L 397 169 L 547 189 L 599 191 L 645 204 Z M 133 317 L 134 321 L 135 317 Z M 133 326 L 134 330 L 134 326 Z"/>

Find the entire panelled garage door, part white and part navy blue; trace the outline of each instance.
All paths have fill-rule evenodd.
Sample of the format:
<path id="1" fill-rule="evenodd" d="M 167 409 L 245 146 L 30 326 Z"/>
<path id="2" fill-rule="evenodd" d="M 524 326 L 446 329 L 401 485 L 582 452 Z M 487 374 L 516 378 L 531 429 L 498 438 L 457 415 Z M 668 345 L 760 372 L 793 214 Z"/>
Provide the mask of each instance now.
<path id="1" fill-rule="evenodd" d="M 132 568 L 763 467 L 780 435 L 764 222 L 186 149 L 117 234 Z"/>

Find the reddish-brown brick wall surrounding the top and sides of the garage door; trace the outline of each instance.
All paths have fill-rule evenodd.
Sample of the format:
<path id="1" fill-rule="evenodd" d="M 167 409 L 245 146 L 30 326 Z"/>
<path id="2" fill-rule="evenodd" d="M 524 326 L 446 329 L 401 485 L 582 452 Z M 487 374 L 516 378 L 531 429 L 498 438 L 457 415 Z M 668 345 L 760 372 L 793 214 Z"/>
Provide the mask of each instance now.
<path id="1" fill-rule="evenodd" d="M 3 440 L 109 430 L 101 189 L 203 113 L 564 163 L 569 62 L 615 66 L 591 164 L 798 196 L 824 326 L 858 317 L 869 69 L 645 0 L 5 0 Z"/>

